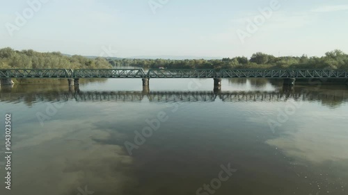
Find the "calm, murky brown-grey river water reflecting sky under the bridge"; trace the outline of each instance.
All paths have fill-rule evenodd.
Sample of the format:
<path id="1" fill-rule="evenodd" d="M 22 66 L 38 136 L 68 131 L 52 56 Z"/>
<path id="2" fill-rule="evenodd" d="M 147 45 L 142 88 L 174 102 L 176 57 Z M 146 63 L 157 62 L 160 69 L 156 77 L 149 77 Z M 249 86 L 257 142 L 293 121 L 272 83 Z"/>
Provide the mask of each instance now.
<path id="1" fill-rule="evenodd" d="M 347 86 L 222 82 L 215 92 L 212 79 L 2 87 L 10 194 L 348 193 Z"/>

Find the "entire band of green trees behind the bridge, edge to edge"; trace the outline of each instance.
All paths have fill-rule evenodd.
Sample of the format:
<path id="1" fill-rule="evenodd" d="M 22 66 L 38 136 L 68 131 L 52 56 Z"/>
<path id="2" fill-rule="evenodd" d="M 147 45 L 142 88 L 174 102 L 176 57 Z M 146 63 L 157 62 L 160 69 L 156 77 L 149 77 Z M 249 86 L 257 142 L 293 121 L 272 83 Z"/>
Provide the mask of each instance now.
<path id="1" fill-rule="evenodd" d="M 109 69 L 120 67 L 166 69 L 348 69 L 348 55 L 340 50 L 322 57 L 303 55 L 275 57 L 254 53 L 251 58 L 239 56 L 221 60 L 115 59 L 67 56 L 60 52 L 39 53 L 29 50 L 0 49 L 0 69 Z"/>

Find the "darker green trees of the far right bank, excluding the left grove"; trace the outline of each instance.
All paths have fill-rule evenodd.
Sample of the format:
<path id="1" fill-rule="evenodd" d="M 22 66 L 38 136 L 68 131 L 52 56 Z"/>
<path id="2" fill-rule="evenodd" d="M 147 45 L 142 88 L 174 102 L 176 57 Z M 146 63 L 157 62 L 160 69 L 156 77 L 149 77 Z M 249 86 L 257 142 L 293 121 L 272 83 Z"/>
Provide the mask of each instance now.
<path id="1" fill-rule="evenodd" d="M 222 60 L 109 59 L 109 62 L 113 67 L 168 69 L 348 69 L 348 55 L 340 50 L 329 51 L 322 57 L 275 57 L 259 52 L 251 58 L 242 56 Z"/>

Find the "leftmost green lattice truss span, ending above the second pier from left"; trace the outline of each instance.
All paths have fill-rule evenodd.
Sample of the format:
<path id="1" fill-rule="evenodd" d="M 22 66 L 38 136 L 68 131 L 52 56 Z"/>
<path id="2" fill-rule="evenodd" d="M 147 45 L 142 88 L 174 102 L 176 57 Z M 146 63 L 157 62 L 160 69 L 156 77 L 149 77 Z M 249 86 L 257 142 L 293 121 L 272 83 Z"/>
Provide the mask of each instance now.
<path id="1" fill-rule="evenodd" d="M 0 69 L 0 78 L 71 78 L 72 69 Z"/>

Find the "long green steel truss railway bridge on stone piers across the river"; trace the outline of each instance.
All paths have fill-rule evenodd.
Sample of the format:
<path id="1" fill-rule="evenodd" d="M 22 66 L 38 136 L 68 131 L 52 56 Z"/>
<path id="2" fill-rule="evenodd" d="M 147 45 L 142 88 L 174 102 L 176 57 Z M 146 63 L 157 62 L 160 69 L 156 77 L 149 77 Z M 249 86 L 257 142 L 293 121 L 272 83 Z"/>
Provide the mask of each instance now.
<path id="1" fill-rule="evenodd" d="M 79 85 L 79 78 L 141 78 L 143 86 L 152 78 L 213 78 L 214 87 L 221 87 L 222 78 L 278 78 L 285 85 L 296 79 L 348 79 L 342 69 L 0 69 L 1 85 L 11 78 L 67 78 L 70 86 Z"/>

